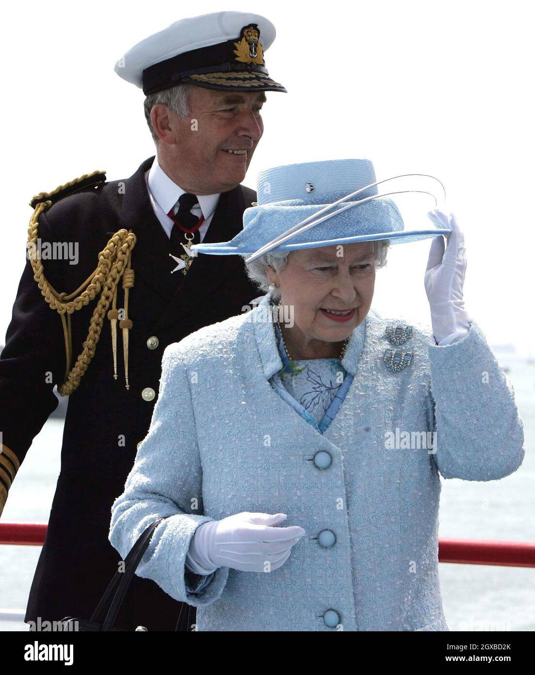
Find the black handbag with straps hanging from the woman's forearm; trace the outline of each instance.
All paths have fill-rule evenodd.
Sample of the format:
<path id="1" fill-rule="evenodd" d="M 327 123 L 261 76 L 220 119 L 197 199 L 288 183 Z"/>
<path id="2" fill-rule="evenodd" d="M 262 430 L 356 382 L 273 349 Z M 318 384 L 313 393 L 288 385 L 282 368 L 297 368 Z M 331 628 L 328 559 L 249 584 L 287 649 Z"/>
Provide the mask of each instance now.
<path id="1" fill-rule="evenodd" d="M 93 612 L 90 620 L 66 616 L 61 620 L 64 626 L 63 630 L 118 630 L 121 632 L 126 632 L 123 628 L 114 628 L 113 624 L 115 623 L 117 613 L 121 609 L 125 593 L 128 590 L 129 584 L 133 578 L 135 570 L 137 569 L 139 561 L 141 558 L 143 558 L 143 554 L 147 550 L 152 533 L 154 533 L 154 530 L 156 527 L 158 527 L 162 520 L 164 520 L 164 518 L 158 518 L 158 520 L 152 522 L 144 531 L 144 533 L 139 536 L 133 547 L 131 547 L 127 557 L 125 558 L 125 571 L 119 572 L 118 570 L 115 572 L 113 579 L 108 584 L 108 588 L 106 591 L 104 591 L 102 598 L 100 598 L 100 602 L 96 606 L 96 610 Z M 179 616 L 177 628 L 175 628 L 175 630 L 178 630 L 184 611 L 187 611 L 189 616 L 190 607 L 189 605 L 185 605 L 183 603 L 181 607 L 181 616 Z M 137 626 L 135 630 L 146 631 L 148 629 L 145 626 Z"/>

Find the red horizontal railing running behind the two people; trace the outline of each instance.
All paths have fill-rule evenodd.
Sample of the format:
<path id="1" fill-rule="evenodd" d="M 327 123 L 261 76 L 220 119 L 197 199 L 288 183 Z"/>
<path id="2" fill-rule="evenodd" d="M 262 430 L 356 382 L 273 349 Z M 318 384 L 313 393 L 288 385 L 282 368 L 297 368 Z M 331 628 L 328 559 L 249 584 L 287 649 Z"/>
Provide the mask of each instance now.
<path id="1" fill-rule="evenodd" d="M 46 526 L 46 522 L 0 522 L 0 544 L 41 546 Z M 535 567 L 535 543 L 439 539 L 439 562 Z"/>

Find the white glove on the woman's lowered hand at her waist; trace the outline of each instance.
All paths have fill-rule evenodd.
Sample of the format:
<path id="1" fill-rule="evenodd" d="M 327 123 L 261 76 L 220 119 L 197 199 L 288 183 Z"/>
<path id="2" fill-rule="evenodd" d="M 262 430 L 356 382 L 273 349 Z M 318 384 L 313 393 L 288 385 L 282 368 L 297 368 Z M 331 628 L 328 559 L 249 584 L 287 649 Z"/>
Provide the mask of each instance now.
<path id="1" fill-rule="evenodd" d="M 265 572 L 265 564 L 269 562 L 268 569 L 276 570 L 288 560 L 292 546 L 305 535 L 305 530 L 298 525 L 275 527 L 286 518 L 284 513 L 243 511 L 222 520 L 203 522 L 189 544 L 192 568 L 200 566 L 205 574 L 218 567 Z"/>

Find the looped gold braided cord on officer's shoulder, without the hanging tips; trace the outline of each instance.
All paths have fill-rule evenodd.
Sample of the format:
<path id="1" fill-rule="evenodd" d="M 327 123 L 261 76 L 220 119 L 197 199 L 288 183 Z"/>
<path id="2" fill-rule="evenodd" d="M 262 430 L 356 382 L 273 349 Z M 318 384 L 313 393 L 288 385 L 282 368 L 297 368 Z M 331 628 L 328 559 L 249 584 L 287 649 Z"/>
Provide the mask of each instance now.
<path id="1" fill-rule="evenodd" d="M 94 173 L 101 172 L 95 171 Z M 59 190 L 63 190 L 67 186 L 72 186 L 76 182 L 80 182 L 85 178 L 94 175 L 94 173 L 84 174 L 74 181 L 59 186 L 54 192 L 42 192 L 37 198 L 40 198 L 40 196 L 52 196 L 56 192 L 59 192 Z M 35 256 L 30 255 L 30 263 L 34 270 L 34 279 L 37 281 L 41 294 L 44 296 L 46 302 L 49 303 L 51 309 L 55 309 L 57 313 L 59 313 L 63 323 L 63 337 L 65 339 L 65 357 L 67 364 L 65 369 L 65 381 L 58 387 L 58 391 L 61 396 L 69 396 L 69 394 L 72 394 L 78 385 L 80 385 L 80 380 L 88 369 L 88 365 L 95 354 L 96 344 L 100 338 L 100 331 L 102 330 L 102 323 L 106 316 L 108 306 L 115 294 L 117 284 L 119 283 L 123 272 L 130 267 L 130 257 L 133 247 L 135 246 L 136 236 L 131 231 L 120 229 L 98 254 L 98 266 L 86 281 L 70 295 L 58 293 L 44 276 L 40 252 L 36 247 L 39 216 L 43 211 L 49 209 L 51 205 L 51 200 L 45 200 L 36 205 L 34 213 L 30 218 L 30 226 L 28 227 L 28 249 L 32 246 L 32 250 L 36 252 Z M 69 371 L 72 360 L 70 315 L 74 311 L 79 310 L 88 304 L 91 300 L 94 300 L 101 289 L 102 292 L 100 298 L 91 318 L 88 337 L 84 342 L 84 349 L 80 356 L 78 356 L 73 368 Z M 78 293 L 80 293 L 80 295 L 77 295 Z M 65 314 L 67 314 L 67 321 L 65 321 Z"/>

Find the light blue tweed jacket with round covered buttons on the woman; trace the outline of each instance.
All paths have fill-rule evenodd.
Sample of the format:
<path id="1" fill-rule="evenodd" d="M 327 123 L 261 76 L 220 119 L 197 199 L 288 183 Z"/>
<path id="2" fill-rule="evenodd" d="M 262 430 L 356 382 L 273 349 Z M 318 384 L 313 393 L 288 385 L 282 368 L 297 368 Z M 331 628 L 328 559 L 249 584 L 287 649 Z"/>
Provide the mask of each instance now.
<path id="1" fill-rule="evenodd" d="M 282 361 L 262 320 L 269 302 L 166 348 L 148 435 L 112 507 L 111 543 L 125 558 L 150 522 L 171 516 L 137 574 L 195 605 L 197 630 L 449 630 L 439 472 L 491 481 L 524 457 L 513 390 L 482 331 L 474 321 L 462 340 L 437 346 L 414 325 L 402 346 L 412 362 L 391 372 L 385 327 L 408 322 L 372 309 L 342 360 L 354 381 L 321 434 L 270 386 Z M 392 448 L 396 428 L 398 439 L 437 431 L 435 448 Z M 272 572 L 218 568 L 208 584 L 185 580 L 197 526 L 242 511 L 284 512 L 284 526 L 307 534 Z M 320 544 L 323 530 L 334 545 Z"/>

